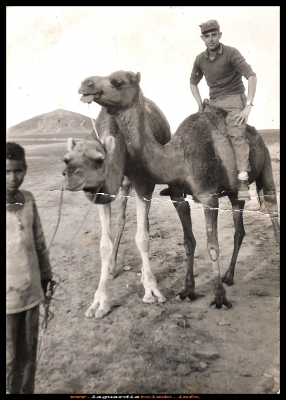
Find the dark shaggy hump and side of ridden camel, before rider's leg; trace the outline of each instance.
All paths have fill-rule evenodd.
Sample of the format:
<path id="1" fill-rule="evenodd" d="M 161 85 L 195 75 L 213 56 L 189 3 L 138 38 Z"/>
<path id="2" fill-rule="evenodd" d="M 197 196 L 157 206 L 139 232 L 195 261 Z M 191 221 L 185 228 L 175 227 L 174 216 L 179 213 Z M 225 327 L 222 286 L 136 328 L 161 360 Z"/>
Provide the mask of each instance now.
<path id="1" fill-rule="evenodd" d="M 184 145 L 185 165 L 191 166 L 190 173 L 200 191 L 214 192 L 221 183 L 230 188 L 236 183 L 236 161 L 225 115 L 218 109 L 192 114 L 175 135 Z"/>

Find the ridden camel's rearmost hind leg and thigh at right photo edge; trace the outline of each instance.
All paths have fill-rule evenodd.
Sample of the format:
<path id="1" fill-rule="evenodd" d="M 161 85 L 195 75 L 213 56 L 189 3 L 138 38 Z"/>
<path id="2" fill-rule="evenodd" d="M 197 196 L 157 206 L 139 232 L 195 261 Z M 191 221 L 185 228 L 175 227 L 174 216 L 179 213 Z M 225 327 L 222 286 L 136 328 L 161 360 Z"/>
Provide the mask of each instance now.
<path id="1" fill-rule="evenodd" d="M 262 171 L 256 179 L 256 188 L 261 211 L 266 210 L 269 213 L 272 226 L 274 229 L 274 237 L 278 245 L 280 245 L 280 227 L 278 222 L 278 205 L 276 197 L 276 188 L 273 179 L 271 166 L 271 158 L 268 149 L 265 151 L 265 161 Z"/>

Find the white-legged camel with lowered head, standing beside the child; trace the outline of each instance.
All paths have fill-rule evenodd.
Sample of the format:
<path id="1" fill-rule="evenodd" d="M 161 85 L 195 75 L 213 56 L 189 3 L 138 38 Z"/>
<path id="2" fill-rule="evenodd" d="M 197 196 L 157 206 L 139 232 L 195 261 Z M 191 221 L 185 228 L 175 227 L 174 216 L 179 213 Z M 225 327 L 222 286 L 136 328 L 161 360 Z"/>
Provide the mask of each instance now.
<path id="1" fill-rule="evenodd" d="M 132 75 L 131 75 L 132 77 Z M 151 101 L 146 99 L 148 121 L 153 126 L 156 143 L 164 145 L 171 139 L 169 124 Z M 68 141 L 68 150 L 64 157 L 66 169 L 66 189 L 83 190 L 90 201 L 98 206 L 102 237 L 100 255 L 102 261 L 100 281 L 94 295 L 94 301 L 85 313 L 86 317 L 102 318 L 109 310 L 107 280 L 116 275 L 116 256 L 119 241 L 124 228 L 127 197 L 132 186 L 137 198 L 136 244 L 142 258 L 141 282 L 145 289 L 143 302 L 164 302 L 166 299 L 157 288 L 157 281 L 149 262 L 148 212 L 150 199 L 155 188 L 153 181 L 148 181 L 144 170 L 136 163 L 132 151 L 126 152 L 126 144 L 115 117 L 102 107 L 96 120 L 99 139 L 93 135 L 90 139 L 75 143 Z M 128 179 L 128 178 L 129 179 Z M 121 189 L 120 189 L 121 187 Z M 121 190 L 119 192 L 119 190 Z M 103 193 L 103 194 L 102 194 Z M 116 239 L 112 239 L 111 202 L 119 193 L 119 213 L 117 217 Z"/>

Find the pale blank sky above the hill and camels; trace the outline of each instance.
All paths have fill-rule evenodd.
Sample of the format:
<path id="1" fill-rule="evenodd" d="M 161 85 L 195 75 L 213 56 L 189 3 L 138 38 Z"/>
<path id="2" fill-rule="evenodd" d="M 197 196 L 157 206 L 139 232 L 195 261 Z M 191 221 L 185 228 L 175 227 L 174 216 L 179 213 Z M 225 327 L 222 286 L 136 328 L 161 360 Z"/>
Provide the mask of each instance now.
<path id="1" fill-rule="evenodd" d="M 199 25 L 209 19 L 219 22 L 221 43 L 237 48 L 257 75 L 248 123 L 279 129 L 279 6 L 8 7 L 7 128 L 59 108 L 90 116 L 79 101 L 80 83 L 126 70 L 141 73 L 144 95 L 175 132 L 198 110 L 189 78 L 205 50 Z M 198 87 L 209 98 L 204 78 Z M 93 102 L 90 110 L 96 118 L 100 106 Z"/>

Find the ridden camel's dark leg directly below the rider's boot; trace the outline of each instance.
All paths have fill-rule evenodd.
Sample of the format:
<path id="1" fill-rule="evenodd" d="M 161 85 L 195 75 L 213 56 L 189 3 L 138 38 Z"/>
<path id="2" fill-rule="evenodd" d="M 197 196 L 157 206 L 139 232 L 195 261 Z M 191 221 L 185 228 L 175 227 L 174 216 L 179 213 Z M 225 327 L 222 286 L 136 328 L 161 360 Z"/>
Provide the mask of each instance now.
<path id="1" fill-rule="evenodd" d="M 243 209 L 244 209 L 245 201 L 238 200 L 237 198 L 233 198 L 231 196 L 229 196 L 229 199 L 232 204 L 233 222 L 234 222 L 234 228 L 235 228 L 234 248 L 233 248 L 233 254 L 231 257 L 230 266 L 229 266 L 228 270 L 226 271 L 226 273 L 223 275 L 222 281 L 223 281 L 223 283 L 227 284 L 228 286 L 232 286 L 236 260 L 238 257 L 241 243 L 245 236 L 245 231 L 244 231 L 244 226 L 243 226 Z"/>

